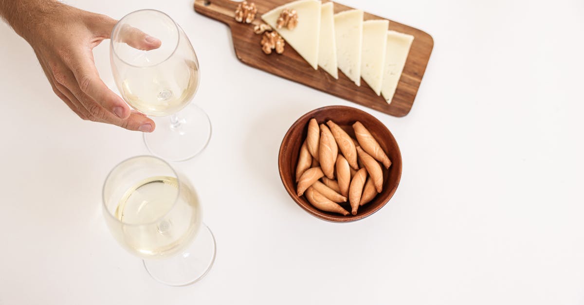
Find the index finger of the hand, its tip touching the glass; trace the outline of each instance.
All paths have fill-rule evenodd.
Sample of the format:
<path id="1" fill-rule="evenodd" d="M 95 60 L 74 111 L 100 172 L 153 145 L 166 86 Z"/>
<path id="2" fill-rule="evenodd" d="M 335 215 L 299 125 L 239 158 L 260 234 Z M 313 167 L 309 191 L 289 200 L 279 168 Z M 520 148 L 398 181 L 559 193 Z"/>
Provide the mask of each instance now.
<path id="1" fill-rule="evenodd" d="M 91 51 L 84 49 L 76 51 L 76 53 L 72 54 L 68 66 L 73 72 L 81 92 L 88 95 L 92 100 L 95 100 L 107 112 L 113 113 L 120 119 L 126 119 L 130 116 L 130 107 L 128 107 L 126 102 L 107 88 L 106 84 L 99 78 L 98 70 L 95 68 L 95 63 L 92 60 Z M 67 87 L 71 89 L 70 86 Z M 78 95 L 75 92 L 74 94 L 76 96 Z M 81 99 L 80 101 L 83 102 Z M 91 109 L 88 110 L 91 112 Z M 103 116 L 101 113 L 95 113 L 95 115 Z"/>

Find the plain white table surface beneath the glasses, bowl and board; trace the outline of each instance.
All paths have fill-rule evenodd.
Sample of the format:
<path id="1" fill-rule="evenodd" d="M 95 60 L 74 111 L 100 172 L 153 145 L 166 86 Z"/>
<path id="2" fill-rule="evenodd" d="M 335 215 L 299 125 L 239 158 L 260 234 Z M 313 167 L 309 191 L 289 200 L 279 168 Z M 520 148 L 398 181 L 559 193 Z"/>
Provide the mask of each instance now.
<path id="1" fill-rule="evenodd" d="M 583 1 L 345 0 L 434 37 L 402 118 L 239 63 L 227 26 L 191 0 L 69 4 L 160 9 L 192 40 L 213 137 L 174 165 L 200 193 L 217 259 L 201 282 L 168 287 L 114 241 L 100 191 L 117 162 L 148 153 L 141 135 L 78 119 L 1 23 L 0 304 L 584 302 Z M 113 86 L 108 44 L 95 60 Z M 397 193 L 356 223 L 305 213 L 277 171 L 290 124 L 325 105 L 372 113 L 401 148 Z"/>

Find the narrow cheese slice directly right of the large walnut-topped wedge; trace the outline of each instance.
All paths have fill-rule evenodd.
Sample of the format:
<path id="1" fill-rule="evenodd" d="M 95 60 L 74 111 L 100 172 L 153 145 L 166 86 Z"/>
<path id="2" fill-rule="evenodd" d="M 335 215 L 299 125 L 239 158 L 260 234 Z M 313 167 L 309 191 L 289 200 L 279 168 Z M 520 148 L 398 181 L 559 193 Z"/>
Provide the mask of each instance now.
<path id="1" fill-rule="evenodd" d="M 333 2 L 321 6 L 321 34 L 318 44 L 318 65 L 322 70 L 339 79 L 336 65 L 335 20 L 333 19 Z"/>

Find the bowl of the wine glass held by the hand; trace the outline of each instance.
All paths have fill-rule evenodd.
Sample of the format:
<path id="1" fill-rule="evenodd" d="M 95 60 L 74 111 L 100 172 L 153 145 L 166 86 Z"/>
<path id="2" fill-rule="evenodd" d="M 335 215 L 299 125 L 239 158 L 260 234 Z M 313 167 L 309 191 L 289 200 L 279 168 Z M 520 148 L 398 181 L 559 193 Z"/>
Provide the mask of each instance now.
<path id="1" fill-rule="evenodd" d="M 199 61 L 189 38 L 159 11 L 145 9 L 120 19 L 112 30 L 110 60 L 121 96 L 146 115 L 179 112 L 199 88 Z"/>

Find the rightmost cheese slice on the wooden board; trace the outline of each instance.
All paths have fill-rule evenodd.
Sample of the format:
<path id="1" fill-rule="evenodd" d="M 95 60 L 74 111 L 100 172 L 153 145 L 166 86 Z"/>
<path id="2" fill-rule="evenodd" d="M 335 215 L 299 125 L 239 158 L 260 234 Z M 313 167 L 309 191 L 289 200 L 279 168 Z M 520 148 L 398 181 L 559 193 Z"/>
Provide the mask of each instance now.
<path id="1" fill-rule="evenodd" d="M 387 31 L 387 46 L 385 46 L 385 64 L 383 71 L 383 84 L 381 94 L 391 103 L 394 98 L 395 88 L 404 71 L 405 61 L 408 59 L 409 48 L 412 46 L 413 36 Z"/>

